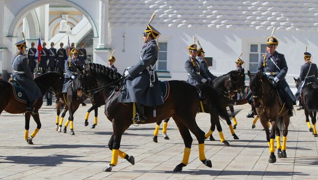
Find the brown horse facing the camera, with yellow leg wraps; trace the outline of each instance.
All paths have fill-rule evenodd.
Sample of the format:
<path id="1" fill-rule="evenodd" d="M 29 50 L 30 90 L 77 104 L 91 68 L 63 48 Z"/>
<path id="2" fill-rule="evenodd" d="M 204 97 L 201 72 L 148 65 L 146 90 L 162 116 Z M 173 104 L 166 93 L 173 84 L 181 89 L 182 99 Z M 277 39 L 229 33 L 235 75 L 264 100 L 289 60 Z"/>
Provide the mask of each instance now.
<path id="1" fill-rule="evenodd" d="M 286 154 L 286 141 L 289 126 L 288 109 L 285 103 L 280 101 L 278 93 L 276 92 L 277 86 L 273 79 L 267 78 L 261 72 L 256 73 L 253 77 L 250 76 L 250 90 L 254 100 L 254 106 L 259 116 L 260 122 L 263 125 L 266 133 L 266 139 L 270 147 L 269 162 L 276 162 L 275 156 L 275 134 L 277 135 L 277 155 L 278 158 L 287 158 Z M 267 126 L 267 121 L 272 124 L 271 132 Z M 283 130 L 283 145 L 280 144 L 280 131 Z"/>

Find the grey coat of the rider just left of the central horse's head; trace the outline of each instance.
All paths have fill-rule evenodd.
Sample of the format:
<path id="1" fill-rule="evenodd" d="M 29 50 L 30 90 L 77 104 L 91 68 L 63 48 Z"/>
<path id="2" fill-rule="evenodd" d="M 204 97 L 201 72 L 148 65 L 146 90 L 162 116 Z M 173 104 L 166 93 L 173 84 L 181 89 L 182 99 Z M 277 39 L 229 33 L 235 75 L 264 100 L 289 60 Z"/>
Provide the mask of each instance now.
<path id="1" fill-rule="evenodd" d="M 77 59 L 74 61 L 73 58 L 71 58 L 70 67 L 68 67 L 68 60 L 65 61 L 64 67 L 65 67 L 65 76 L 64 76 L 64 84 L 63 84 L 63 90 L 62 93 L 68 92 L 68 84 L 71 80 L 71 76 L 77 76 L 77 66 L 79 66 L 79 60 Z"/>

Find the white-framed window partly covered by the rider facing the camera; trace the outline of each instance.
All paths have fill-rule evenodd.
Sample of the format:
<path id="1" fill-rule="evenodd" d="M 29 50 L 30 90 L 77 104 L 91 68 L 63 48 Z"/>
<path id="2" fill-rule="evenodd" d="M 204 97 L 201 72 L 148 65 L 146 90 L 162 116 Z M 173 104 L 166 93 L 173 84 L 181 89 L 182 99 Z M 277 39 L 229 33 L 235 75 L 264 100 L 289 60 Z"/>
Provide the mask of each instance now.
<path id="1" fill-rule="evenodd" d="M 265 54 L 266 51 L 266 44 L 250 44 L 250 72 L 255 73 L 256 68 L 258 65 L 258 61 L 260 60 L 261 56 Z"/>

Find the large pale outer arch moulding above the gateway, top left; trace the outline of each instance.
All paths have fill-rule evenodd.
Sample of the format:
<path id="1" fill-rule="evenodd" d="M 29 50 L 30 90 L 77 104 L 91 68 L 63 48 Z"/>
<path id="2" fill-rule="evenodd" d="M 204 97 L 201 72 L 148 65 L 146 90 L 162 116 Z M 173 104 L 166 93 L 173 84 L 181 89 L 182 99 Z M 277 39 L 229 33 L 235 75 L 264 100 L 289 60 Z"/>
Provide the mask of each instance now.
<path id="1" fill-rule="evenodd" d="M 91 27 L 93 28 L 93 32 L 94 32 L 94 37 L 98 37 L 98 31 L 97 31 L 97 27 L 95 22 L 93 21 L 93 19 L 91 18 L 90 14 L 87 13 L 87 11 L 85 9 L 83 9 L 81 6 L 75 4 L 74 2 L 71 2 L 69 0 L 39 0 L 39 1 L 35 1 L 27 6 L 25 6 L 13 19 L 9 30 L 8 30 L 8 37 L 12 37 L 17 33 L 17 25 L 19 23 L 19 21 L 26 15 L 28 14 L 30 11 L 32 11 L 33 9 L 40 7 L 42 5 L 45 4 L 50 4 L 50 3 L 63 3 L 66 5 L 69 5 L 71 7 L 74 7 L 75 9 L 81 11 L 84 16 L 86 16 L 86 18 L 89 20 L 89 22 L 91 23 Z"/>

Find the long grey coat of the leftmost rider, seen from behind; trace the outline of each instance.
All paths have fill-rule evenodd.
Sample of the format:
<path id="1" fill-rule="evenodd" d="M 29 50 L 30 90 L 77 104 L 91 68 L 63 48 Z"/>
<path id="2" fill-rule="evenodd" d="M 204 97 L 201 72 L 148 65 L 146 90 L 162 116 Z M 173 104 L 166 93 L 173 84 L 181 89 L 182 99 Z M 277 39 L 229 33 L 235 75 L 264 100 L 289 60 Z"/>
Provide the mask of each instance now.
<path id="1" fill-rule="evenodd" d="M 41 90 L 33 81 L 34 75 L 27 64 L 27 58 L 20 53 L 18 56 L 12 58 L 11 63 L 13 67 L 14 80 L 16 80 L 20 87 L 24 90 L 28 100 L 34 101 L 42 97 L 43 95 Z"/>

